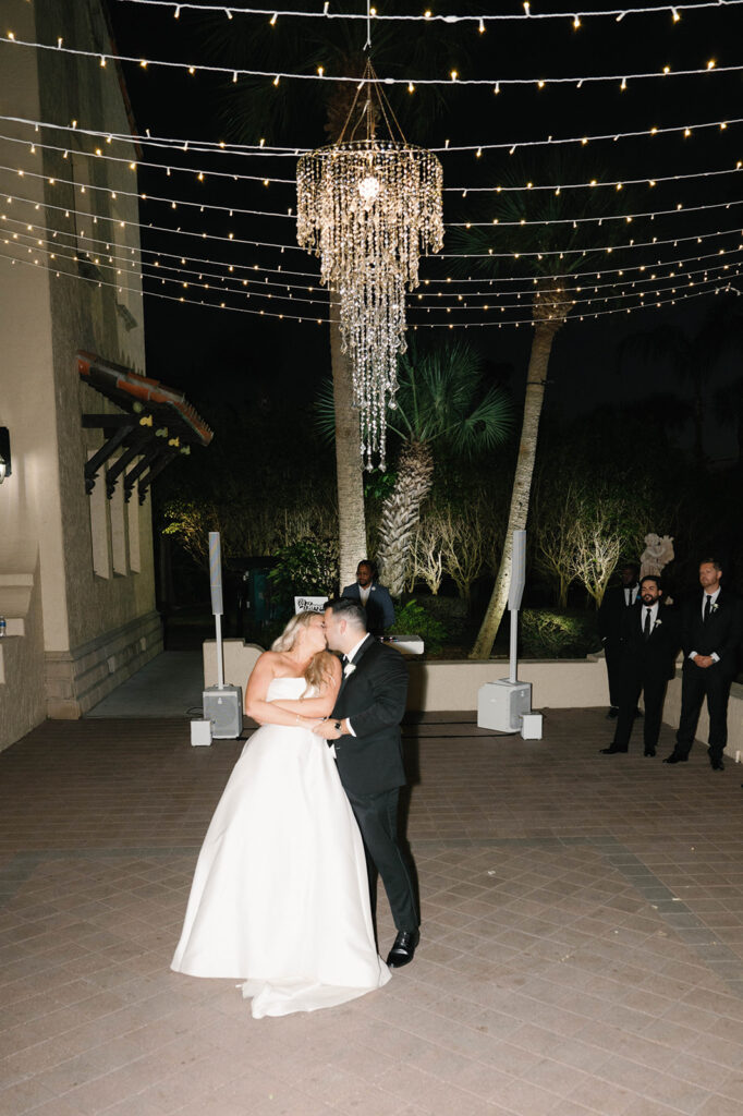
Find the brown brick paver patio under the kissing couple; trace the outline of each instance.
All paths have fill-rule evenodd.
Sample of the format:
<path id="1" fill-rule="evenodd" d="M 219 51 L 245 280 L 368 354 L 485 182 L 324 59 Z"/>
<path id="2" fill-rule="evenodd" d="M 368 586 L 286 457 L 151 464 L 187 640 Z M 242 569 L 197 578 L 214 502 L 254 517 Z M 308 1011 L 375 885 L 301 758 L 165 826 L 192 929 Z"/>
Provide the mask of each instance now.
<path id="1" fill-rule="evenodd" d="M 0 1116 L 739 1116 L 743 769 L 610 734 L 598 710 L 530 742 L 408 725 L 415 962 L 255 1021 L 168 969 L 241 744 L 41 725 L 0 754 Z"/>

